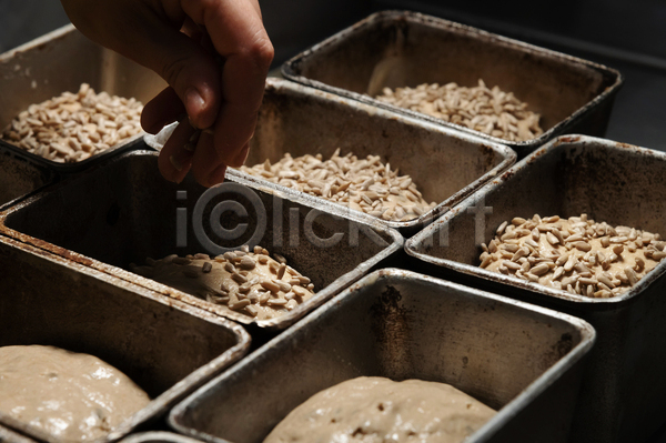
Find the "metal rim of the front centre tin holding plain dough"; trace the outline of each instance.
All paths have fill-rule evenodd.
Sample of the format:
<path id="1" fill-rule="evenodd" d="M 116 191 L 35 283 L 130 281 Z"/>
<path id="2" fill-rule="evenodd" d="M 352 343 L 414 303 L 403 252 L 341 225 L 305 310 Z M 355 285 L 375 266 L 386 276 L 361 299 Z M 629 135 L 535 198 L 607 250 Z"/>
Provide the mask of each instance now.
<path id="1" fill-rule="evenodd" d="M 206 384 L 201 386 L 199 390 L 190 394 L 186 399 L 176 404 L 169 413 L 168 423 L 176 432 L 190 435 L 194 439 L 202 440 L 209 443 L 232 443 L 225 439 L 211 435 L 205 432 L 198 431 L 193 427 L 186 426 L 181 423 L 183 415 L 192 407 L 195 407 L 199 397 L 204 395 L 209 390 L 213 389 L 216 384 L 224 383 L 226 380 L 232 380 L 243 373 L 245 368 L 252 366 L 253 362 L 264 358 L 264 354 L 271 352 L 276 345 L 282 342 L 294 341 L 299 336 L 301 330 L 307 331 L 307 328 L 312 323 L 316 323 L 322 316 L 330 315 L 334 309 L 345 303 L 350 298 L 360 296 L 359 292 L 365 286 L 375 284 L 382 278 L 404 278 L 407 280 L 416 280 L 422 283 L 428 283 L 437 285 L 442 289 L 455 290 L 458 292 L 465 292 L 476 298 L 483 298 L 486 300 L 494 300 L 496 302 L 519 308 L 522 310 L 532 311 L 552 319 L 566 322 L 575 328 L 581 333 L 581 341 L 576 344 L 567 354 L 562 356 L 551 368 L 544 371 L 537 376 L 532 383 L 529 383 L 519 394 L 501 407 L 497 413 L 488 420 L 482 427 L 473 433 L 468 439 L 470 443 L 482 442 L 491 437 L 494 433 L 500 431 L 508 421 L 517 415 L 529 402 L 532 402 L 537 395 L 544 392 L 551 386 L 558 377 L 563 376 L 565 372 L 571 369 L 575 363 L 583 359 L 592 349 L 596 341 L 595 329 L 585 320 L 576 316 L 554 311 L 547 308 L 537 306 L 531 303 L 522 302 L 518 300 L 509 299 L 503 295 L 493 294 L 486 291 L 477 290 L 474 288 L 465 286 L 463 284 L 453 283 L 446 280 L 437 279 L 430 275 L 420 274 L 413 271 L 406 271 L 401 269 L 387 268 L 372 272 L 364 276 L 350 288 L 345 289 L 334 300 L 330 300 L 316 311 L 307 315 L 293 328 L 278 335 L 269 343 L 253 352 L 246 359 L 243 359 L 239 364 L 219 374 Z M 301 333 L 304 334 L 304 333 Z M 246 370 L 245 370 L 246 371 Z"/>

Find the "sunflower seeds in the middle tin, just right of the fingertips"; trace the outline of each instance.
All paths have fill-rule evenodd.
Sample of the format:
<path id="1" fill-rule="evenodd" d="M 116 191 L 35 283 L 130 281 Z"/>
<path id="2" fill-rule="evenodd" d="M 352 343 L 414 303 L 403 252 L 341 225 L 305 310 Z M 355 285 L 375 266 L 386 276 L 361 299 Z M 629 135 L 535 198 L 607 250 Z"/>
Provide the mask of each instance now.
<path id="1" fill-rule="evenodd" d="M 398 175 L 379 155 L 359 160 L 351 152 L 341 157 L 337 149 L 331 159 L 322 159 L 322 154 L 294 159 L 286 153 L 278 163 L 266 160 L 241 171 L 383 220 L 407 221 L 436 207 L 423 199 L 410 175 Z"/>

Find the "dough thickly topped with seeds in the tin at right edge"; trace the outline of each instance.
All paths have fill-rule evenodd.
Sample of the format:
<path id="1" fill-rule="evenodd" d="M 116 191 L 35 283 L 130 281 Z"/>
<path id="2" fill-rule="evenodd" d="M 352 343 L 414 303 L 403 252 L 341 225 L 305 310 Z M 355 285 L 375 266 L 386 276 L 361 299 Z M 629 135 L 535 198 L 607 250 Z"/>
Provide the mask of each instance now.
<path id="1" fill-rule="evenodd" d="M 657 233 L 596 223 L 586 214 L 515 218 L 482 245 L 481 268 L 591 298 L 628 291 L 666 256 Z"/>

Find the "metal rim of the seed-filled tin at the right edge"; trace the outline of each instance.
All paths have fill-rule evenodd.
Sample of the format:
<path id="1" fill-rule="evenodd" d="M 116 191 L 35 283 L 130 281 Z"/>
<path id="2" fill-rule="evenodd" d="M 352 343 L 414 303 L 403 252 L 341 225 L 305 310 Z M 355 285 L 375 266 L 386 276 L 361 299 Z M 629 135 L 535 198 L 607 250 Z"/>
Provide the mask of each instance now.
<path id="1" fill-rule="evenodd" d="M 523 173 L 524 170 L 529 169 L 529 164 L 534 162 L 541 161 L 539 159 L 554 155 L 555 151 L 561 145 L 567 145 L 573 143 L 582 143 L 582 144 L 594 144 L 598 145 L 602 149 L 607 150 L 616 150 L 616 151 L 634 151 L 639 155 L 653 157 L 657 160 L 666 162 L 666 152 L 656 151 L 653 149 L 635 147 L 626 143 L 614 142 L 606 139 L 599 139 L 596 137 L 589 135 L 562 135 L 558 137 L 546 145 L 537 149 L 534 153 L 528 155 L 527 158 L 521 160 L 518 163 L 509 168 L 506 172 L 502 174 L 498 180 L 494 180 L 491 183 L 484 185 L 474 197 L 465 200 L 457 207 L 453 208 L 448 213 L 441 217 L 434 223 L 425 228 L 423 231 L 418 232 L 413 238 L 408 239 L 405 242 L 405 252 L 414 256 L 421 261 L 426 263 L 434 264 L 436 266 L 441 266 L 444 269 L 450 269 L 458 273 L 463 273 L 466 275 L 471 275 L 473 278 L 480 278 L 486 281 L 491 281 L 494 283 L 500 283 L 504 286 L 514 286 L 522 290 L 529 291 L 532 293 L 536 293 L 539 295 L 547 295 L 555 299 L 563 300 L 565 302 L 573 302 L 576 304 L 599 304 L 599 305 L 613 305 L 617 303 L 624 303 L 638 296 L 642 292 L 644 292 L 654 281 L 659 279 L 666 272 L 666 260 L 662 260 L 652 271 L 649 271 L 646 275 L 644 275 L 638 282 L 632 286 L 628 291 L 612 296 L 609 299 L 596 299 L 589 298 L 586 295 L 572 294 L 564 290 L 558 290 L 555 288 L 549 288 L 542 285 L 539 283 L 526 282 L 524 280 L 518 279 L 514 275 L 504 275 L 498 272 L 488 271 L 486 269 L 480 268 L 477 265 L 461 263 L 454 260 L 441 259 L 433 255 L 430 255 L 425 252 L 421 252 L 421 244 L 426 239 L 434 236 L 440 229 L 448 226 L 448 222 L 457 217 L 458 214 L 465 213 L 468 208 L 473 208 L 477 201 L 485 200 L 487 194 L 494 193 L 500 184 L 503 181 L 511 180 L 515 174 Z M 615 306 L 608 306 L 613 309 Z"/>

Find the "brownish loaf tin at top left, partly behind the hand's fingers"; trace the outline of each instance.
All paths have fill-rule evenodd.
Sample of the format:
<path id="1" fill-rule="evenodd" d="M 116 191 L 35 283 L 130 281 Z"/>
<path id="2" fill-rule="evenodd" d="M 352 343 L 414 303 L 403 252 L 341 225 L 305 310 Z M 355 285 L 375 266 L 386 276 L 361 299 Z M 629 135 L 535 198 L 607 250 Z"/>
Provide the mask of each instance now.
<path id="1" fill-rule="evenodd" d="M 133 97 L 144 104 L 167 87 L 154 72 L 93 43 L 68 24 L 0 54 L 0 131 L 30 104 L 77 92 L 81 83 L 89 83 L 98 93 Z M 52 170 L 74 173 L 137 147 L 142 138 L 139 133 L 75 163 L 57 163 L 6 140 L 0 140 L 0 145 Z"/>

